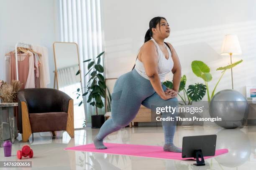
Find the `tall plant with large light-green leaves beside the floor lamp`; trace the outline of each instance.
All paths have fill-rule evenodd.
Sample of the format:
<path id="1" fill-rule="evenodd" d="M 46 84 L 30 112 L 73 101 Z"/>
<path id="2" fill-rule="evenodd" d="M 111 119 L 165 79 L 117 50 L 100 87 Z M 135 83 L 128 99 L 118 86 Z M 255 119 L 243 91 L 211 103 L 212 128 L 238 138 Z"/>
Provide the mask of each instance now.
<path id="1" fill-rule="evenodd" d="M 235 67 L 236 65 L 238 65 L 242 61 L 243 60 L 239 60 L 237 62 L 234 62 L 233 64 L 227 65 L 225 67 L 219 67 L 219 68 L 216 69 L 216 70 L 223 70 L 223 71 L 222 71 L 222 75 L 220 76 L 217 84 L 215 85 L 211 95 L 210 95 L 209 86 L 208 86 L 208 82 L 210 82 L 212 80 L 212 75 L 210 73 L 210 68 L 202 61 L 197 61 L 197 60 L 192 61 L 192 63 L 191 63 L 192 71 L 194 72 L 194 74 L 197 77 L 201 77 L 205 81 L 205 85 L 206 85 L 206 88 L 207 88 L 207 97 L 208 97 L 209 102 L 212 99 L 212 97 L 214 96 L 216 87 L 219 84 L 221 78 L 223 77 L 225 71 L 232 68 L 232 67 Z"/>

